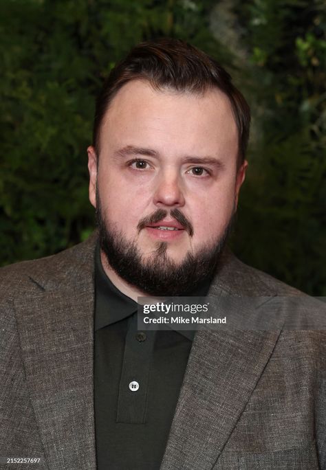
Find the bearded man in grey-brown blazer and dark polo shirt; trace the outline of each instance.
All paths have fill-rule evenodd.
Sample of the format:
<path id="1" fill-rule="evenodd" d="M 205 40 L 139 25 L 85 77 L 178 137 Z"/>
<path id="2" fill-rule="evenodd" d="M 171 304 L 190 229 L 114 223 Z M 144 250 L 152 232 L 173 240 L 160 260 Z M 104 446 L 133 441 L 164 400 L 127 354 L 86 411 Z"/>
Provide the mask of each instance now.
<path id="1" fill-rule="evenodd" d="M 137 328 L 144 295 L 264 296 L 266 316 L 301 294 L 225 248 L 249 122 L 226 71 L 182 41 L 138 45 L 113 69 L 88 148 L 98 232 L 1 273 L 1 456 L 325 468 L 325 332 Z"/>

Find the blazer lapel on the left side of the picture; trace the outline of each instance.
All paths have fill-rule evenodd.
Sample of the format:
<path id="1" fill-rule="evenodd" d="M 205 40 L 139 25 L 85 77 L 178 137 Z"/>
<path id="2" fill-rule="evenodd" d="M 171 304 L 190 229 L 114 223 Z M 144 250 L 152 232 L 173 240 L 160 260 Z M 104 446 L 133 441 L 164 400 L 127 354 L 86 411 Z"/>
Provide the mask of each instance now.
<path id="1" fill-rule="evenodd" d="M 15 302 L 31 403 L 53 470 L 96 468 L 94 282 L 87 261 L 87 271 L 76 269 L 57 288 Z"/>

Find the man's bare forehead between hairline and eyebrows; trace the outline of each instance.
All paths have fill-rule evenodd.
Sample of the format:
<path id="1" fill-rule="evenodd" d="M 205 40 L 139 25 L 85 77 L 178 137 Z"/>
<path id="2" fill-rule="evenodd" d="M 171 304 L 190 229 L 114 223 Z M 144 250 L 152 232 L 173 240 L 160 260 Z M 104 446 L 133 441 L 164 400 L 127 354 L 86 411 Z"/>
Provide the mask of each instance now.
<path id="1" fill-rule="evenodd" d="M 121 144 L 188 150 L 200 145 L 210 151 L 232 147 L 237 153 L 237 141 L 230 100 L 219 89 L 195 94 L 153 89 L 143 80 L 132 80 L 116 93 L 100 131 L 101 151 Z"/>

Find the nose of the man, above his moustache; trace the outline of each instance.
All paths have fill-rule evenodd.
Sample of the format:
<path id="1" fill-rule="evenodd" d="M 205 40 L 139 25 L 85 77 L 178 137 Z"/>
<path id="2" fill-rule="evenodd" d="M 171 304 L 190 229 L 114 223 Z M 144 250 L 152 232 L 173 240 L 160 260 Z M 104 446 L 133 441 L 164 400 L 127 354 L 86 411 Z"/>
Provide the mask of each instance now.
<path id="1" fill-rule="evenodd" d="M 155 188 L 154 203 L 159 208 L 179 208 L 184 205 L 180 175 L 174 171 L 166 171 L 160 175 Z"/>

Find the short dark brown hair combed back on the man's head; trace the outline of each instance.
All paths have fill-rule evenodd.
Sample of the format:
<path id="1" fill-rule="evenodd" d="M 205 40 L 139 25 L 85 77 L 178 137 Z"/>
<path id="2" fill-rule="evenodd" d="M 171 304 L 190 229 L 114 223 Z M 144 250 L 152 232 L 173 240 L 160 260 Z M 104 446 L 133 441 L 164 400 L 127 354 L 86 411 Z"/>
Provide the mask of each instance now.
<path id="1" fill-rule="evenodd" d="M 100 126 L 113 97 L 131 80 L 148 80 L 155 89 L 204 93 L 216 87 L 228 96 L 239 133 L 239 163 L 245 159 L 250 130 L 250 108 L 216 60 L 184 41 L 165 38 L 141 43 L 109 74 L 96 101 L 93 145 L 99 153 Z"/>

